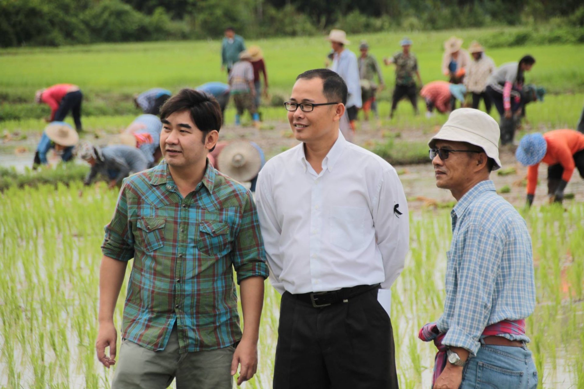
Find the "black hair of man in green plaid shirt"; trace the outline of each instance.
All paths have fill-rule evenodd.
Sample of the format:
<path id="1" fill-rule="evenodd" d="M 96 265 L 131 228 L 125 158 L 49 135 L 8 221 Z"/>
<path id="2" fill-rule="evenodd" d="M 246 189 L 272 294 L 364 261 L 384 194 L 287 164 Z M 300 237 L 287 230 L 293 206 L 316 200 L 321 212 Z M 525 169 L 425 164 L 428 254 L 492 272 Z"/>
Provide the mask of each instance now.
<path id="1" fill-rule="evenodd" d="M 164 120 L 175 112 L 183 111 L 189 111 L 193 123 L 203 132 L 203 143 L 210 131 L 219 131 L 223 124 L 219 103 L 213 95 L 206 92 L 181 89 L 160 108 L 160 119 Z"/>

